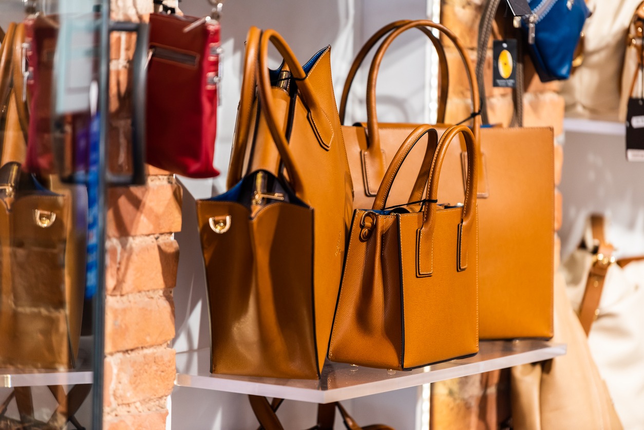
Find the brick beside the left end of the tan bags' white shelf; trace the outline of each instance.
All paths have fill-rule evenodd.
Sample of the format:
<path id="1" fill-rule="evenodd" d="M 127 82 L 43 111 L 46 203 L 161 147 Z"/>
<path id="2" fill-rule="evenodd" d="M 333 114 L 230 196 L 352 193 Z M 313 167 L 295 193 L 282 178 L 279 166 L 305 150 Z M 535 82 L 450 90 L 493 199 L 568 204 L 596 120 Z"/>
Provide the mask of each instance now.
<path id="1" fill-rule="evenodd" d="M 175 350 L 165 347 L 112 355 L 114 383 L 109 395 L 118 405 L 169 396 L 175 384 Z"/>

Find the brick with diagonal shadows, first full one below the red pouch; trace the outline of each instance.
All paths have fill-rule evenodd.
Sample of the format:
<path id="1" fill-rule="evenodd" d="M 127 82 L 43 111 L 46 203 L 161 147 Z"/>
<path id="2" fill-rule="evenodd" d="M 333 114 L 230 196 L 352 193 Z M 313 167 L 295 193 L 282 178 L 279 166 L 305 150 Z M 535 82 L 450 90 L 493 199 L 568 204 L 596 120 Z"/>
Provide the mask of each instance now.
<path id="1" fill-rule="evenodd" d="M 182 190 L 178 184 L 109 188 L 108 237 L 180 231 L 181 202 Z"/>

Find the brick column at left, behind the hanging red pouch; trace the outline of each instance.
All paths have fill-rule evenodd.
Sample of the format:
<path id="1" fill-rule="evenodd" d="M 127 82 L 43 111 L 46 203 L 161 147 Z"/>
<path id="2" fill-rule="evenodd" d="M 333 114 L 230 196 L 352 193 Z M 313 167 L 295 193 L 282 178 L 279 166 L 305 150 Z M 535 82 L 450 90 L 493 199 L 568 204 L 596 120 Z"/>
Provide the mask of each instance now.
<path id="1" fill-rule="evenodd" d="M 113 0 L 111 18 L 145 20 L 152 0 Z M 135 36 L 114 33 L 110 52 L 109 167 L 129 170 L 130 61 Z M 148 169 L 144 186 L 110 188 L 106 240 L 104 428 L 164 430 L 175 380 L 173 291 L 180 186 Z"/>

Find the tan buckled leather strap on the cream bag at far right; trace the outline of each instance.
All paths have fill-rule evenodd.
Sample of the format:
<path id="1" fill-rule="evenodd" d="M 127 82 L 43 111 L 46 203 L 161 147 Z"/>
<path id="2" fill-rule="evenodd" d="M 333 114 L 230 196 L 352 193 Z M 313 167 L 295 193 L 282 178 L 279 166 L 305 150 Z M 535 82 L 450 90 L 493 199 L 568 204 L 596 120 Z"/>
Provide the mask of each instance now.
<path id="1" fill-rule="evenodd" d="M 601 292 L 603 291 L 608 269 L 615 262 L 613 255 L 615 248 L 606 242 L 603 215 L 591 215 L 590 223 L 592 231 L 592 245 L 590 246 L 593 249 L 589 249 L 589 251 L 593 254 L 593 258 L 579 309 L 579 322 L 582 324 L 586 336 L 590 333 L 592 323 L 597 318 Z M 587 247 L 589 247 L 589 244 L 587 244 Z"/>

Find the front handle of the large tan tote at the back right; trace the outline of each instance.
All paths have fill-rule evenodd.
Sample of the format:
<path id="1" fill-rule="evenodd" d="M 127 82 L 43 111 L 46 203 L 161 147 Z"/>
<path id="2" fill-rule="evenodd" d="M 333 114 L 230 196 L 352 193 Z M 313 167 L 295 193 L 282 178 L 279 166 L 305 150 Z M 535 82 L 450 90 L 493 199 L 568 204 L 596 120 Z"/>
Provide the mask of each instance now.
<path id="1" fill-rule="evenodd" d="M 369 75 L 367 80 L 367 93 L 366 93 L 366 108 L 367 108 L 367 130 L 368 130 L 368 142 L 369 148 L 368 151 L 372 154 L 379 155 L 381 153 L 381 144 L 380 144 L 380 134 L 378 130 L 378 118 L 375 105 L 375 83 L 378 77 L 378 70 L 380 64 L 383 61 L 384 54 L 392 42 L 401 34 L 410 30 L 411 28 L 418 27 L 429 27 L 439 30 L 442 34 L 446 35 L 448 39 L 456 46 L 459 51 L 460 57 L 465 65 L 469 86 L 471 89 L 471 101 L 473 112 L 478 112 L 480 100 L 478 99 L 478 85 L 475 79 L 474 70 L 469 61 L 467 51 L 465 50 L 462 43 L 460 43 L 459 38 L 446 26 L 442 24 L 434 23 L 429 19 L 419 19 L 417 21 L 410 21 L 399 28 L 396 28 L 387 35 L 383 43 L 378 48 L 375 53 L 374 59 L 372 60 L 371 67 L 369 69 Z M 475 138 L 478 140 L 478 135 L 480 133 L 480 117 L 476 115 L 473 120 L 473 130 Z M 380 157 L 379 157 L 380 158 Z"/>

